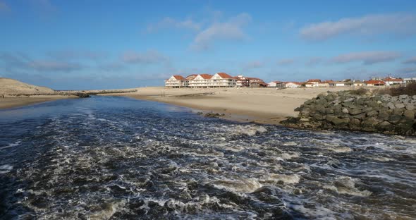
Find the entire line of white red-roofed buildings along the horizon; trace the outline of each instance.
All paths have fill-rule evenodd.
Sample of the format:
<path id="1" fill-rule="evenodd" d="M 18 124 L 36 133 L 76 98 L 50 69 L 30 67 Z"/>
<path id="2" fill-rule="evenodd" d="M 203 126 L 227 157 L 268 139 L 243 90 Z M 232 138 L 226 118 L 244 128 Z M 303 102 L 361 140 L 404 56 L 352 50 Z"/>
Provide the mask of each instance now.
<path id="1" fill-rule="evenodd" d="M 371 78 L 366 81 L 361 80 L 320 80 L 309 79 L 305 82 L 282 82 L 271 81 L 264 82 L 260 78 L 247 77 L 244 75 L 231 76 L 227 73 L 215 73 L 210 75 L 192 74 L 187 77 L 182 75 L 172 75 L 171 78 L 165 80 L 166 87 L 276 87 L 276 88 L 294 88 L 294 87 L 384 87 L 391 85 L 405 85 L 406 83 L 416 82 L 415 78 Z"/>

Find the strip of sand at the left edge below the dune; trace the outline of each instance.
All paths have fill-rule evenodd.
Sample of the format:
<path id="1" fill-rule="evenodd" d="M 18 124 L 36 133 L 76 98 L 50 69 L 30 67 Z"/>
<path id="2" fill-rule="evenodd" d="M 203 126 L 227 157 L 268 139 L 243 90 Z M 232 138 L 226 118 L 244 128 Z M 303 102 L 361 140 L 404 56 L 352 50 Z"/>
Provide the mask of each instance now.
<path id="1" fill-rule="evenodd" d="M 30 95 L 26 96 L 6 96 L 4 99 L 0 98 L 0 109 L 16 108 L 30 104 L 37 104 L 41 102 L 49 102 L 57 99 L 78 98 L 76 96 L 68 95 Z"/>

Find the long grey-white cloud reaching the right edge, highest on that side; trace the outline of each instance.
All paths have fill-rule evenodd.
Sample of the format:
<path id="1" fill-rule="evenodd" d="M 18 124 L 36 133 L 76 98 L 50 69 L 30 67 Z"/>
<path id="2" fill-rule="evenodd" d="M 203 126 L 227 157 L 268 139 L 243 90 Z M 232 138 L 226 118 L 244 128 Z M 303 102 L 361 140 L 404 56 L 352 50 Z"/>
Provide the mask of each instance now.
<path id="1" fill-rule="evenodd" d="M 314 23 L 303 27 L 300 35 L 309 40 L 325 40 L 338 35 L 410 35 L 416 33 L 415 27 L 415 15 L 392 13 Z"/>

